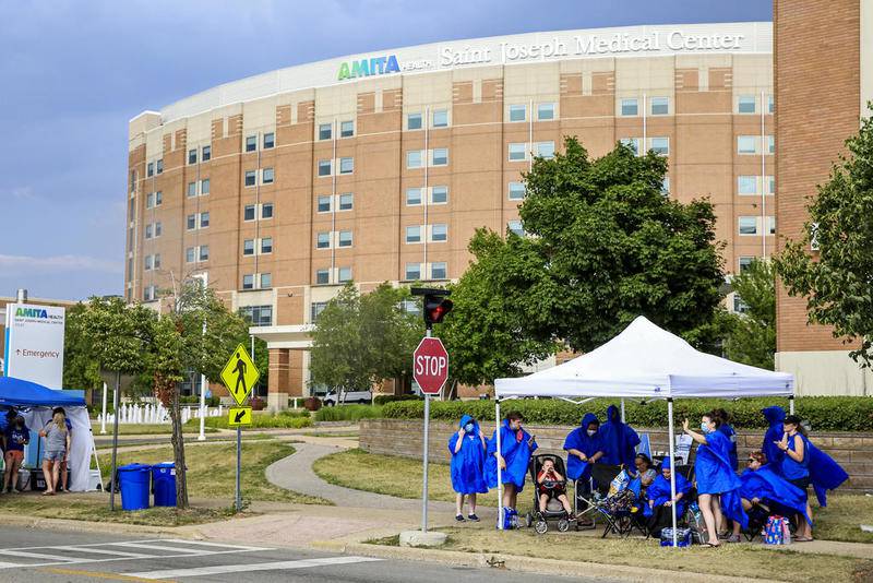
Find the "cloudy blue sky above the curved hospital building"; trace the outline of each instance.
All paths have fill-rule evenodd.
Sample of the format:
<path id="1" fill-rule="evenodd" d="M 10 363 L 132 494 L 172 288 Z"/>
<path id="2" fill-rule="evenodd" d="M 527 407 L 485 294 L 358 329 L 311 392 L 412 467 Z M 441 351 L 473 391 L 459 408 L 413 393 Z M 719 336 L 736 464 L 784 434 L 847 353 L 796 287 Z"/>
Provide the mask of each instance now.
<path id="1" fill-rule="evenodd" d="M 122 291 L 128 120 L 144 109 L 380 48 L 770 19 L 767 0 L 0 0 L 0 296 Z"/>

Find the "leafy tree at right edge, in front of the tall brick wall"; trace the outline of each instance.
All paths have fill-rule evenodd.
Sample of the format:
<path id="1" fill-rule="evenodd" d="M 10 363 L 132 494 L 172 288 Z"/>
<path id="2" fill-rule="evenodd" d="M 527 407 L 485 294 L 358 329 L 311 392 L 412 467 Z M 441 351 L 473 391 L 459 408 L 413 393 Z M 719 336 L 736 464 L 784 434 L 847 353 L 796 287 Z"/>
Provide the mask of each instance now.
<path id="1" fill-rule="evenodd" d="M 872 106 L 873 107 L 873 106 Z M 835 338 L 873 365 L 873 121 L 846 141 L 830 178 L 806 206 L 803 235 L 788 240 L 776 270 L 788 294 L 806 298 L 810 323 L 833 326 Z M 815 247 L 816 250 L 813 250 Z"/>

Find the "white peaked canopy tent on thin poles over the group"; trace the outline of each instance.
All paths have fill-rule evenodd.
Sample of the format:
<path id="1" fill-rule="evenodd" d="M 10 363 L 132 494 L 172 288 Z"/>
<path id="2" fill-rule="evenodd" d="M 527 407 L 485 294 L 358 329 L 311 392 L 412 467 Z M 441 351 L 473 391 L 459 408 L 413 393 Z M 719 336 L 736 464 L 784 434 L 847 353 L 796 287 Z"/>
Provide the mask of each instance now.
<path id="1" fill-rule="evenodd" d="M 501 451 L 502 400 L 540 396 L 583 403 L 593 397 L 631 397 L 667 400 L 668 450 L 672 453 L 673 398 L 787 396 L 793 405 L 794 377 L 701 353 L 641 316 L 618 336 L 590 353 L 527 377 L 497 379 L 494 396 L 498 451 Z M 503 484 L 500 464 L 498 488 L 502 527 Z M 674 478 L 670 480 L 670 488 L 675 497 Z M 673 507 L 673 533 L 675 521 Z"/>

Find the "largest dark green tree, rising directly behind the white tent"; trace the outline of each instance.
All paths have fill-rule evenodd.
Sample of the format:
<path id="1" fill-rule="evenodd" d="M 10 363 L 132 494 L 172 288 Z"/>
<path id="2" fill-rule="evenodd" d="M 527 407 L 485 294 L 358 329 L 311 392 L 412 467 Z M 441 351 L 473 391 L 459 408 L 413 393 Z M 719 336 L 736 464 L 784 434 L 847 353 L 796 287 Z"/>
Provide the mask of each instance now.
<path id="1" fill-rule="evenodd" d="M 517 374 L 561 344 L 591 350 L 641 314 L 690 337 L 711 325 L 722 299 L 713 205 L 666 198 L 666 172 L 651 152 L 618 145 L 593 159 L 575 138 L 534 162 L 519 209 L 530 236 L 477 233 L 453 290 L 444 334 L 465 382 Z"/>

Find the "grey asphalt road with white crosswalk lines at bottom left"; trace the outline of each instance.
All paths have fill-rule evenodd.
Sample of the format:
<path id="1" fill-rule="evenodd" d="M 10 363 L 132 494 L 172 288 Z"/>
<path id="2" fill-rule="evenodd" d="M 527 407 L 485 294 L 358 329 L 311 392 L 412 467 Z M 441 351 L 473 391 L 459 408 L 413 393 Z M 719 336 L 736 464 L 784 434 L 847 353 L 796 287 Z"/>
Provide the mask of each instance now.
<path id="1" fill-rule="evenodd" d="M 11 526 L 0 528 L 0 581 L 4 582 L 529 583 L 531 578 L 537 580 L 542 575 L 268 548 L 247 545 L 244 540 L 216 543 L 147 535 L 130 537 Z"/>

